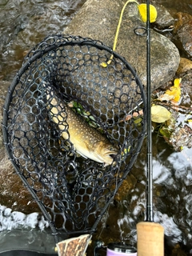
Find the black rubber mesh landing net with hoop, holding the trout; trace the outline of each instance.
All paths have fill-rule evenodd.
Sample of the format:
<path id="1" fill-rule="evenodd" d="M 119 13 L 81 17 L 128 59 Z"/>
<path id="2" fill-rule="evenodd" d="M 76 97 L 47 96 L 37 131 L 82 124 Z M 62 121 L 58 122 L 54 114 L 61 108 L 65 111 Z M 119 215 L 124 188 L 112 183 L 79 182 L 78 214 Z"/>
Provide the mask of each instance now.
<path id="1" fill-rule="evenodd" d="M 26 56 L 6 97 L 4 141 L 53 232 L 94 232 L 138 156 L 145 108 L 136 72 L 102 42 L 51 35 Z"/>

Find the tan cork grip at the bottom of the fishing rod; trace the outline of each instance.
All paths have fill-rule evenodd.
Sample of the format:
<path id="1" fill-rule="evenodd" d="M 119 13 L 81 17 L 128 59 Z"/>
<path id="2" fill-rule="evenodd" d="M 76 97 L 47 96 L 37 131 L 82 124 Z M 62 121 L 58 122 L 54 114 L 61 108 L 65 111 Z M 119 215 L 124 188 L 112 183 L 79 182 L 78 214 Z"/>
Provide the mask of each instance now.
<path id="1" fill-rule="evenodd" d="M 164 229 L 154 222 L 139 222 L 138 256 L 163 256 L 164 255 Z"/>

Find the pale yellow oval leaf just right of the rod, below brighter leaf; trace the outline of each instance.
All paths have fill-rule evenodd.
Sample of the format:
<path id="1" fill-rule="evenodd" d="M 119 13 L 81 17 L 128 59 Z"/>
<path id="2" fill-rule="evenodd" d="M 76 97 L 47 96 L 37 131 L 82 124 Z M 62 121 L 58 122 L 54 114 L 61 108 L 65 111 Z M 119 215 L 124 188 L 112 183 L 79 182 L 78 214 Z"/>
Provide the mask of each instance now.
<path id="1" fill-rule="evenodd" d="M 170 111 L 164 106 L 151 106 L 151 121 L 153 122 L 166 122 L 170 119 Z"/>

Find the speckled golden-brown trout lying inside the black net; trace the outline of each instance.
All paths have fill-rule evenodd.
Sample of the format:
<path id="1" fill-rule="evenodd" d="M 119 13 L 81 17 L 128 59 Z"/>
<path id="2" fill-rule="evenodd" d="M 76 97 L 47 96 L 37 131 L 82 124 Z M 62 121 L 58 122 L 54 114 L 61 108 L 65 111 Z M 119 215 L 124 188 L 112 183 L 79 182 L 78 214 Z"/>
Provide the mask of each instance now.
<path id="1" fill-rule="evenodd" d="M 63 130 L 62 137 L 69 139 L 74 145 L 74 150 L 84 158 L 109 166 L 118 154 L 118 149 L 102 134 L 91 127 L 83 118 L 76 114 L 67 104 L 59 103 L 52 96 L 50 98 L 50 115 L 53 121 Z M 67 132 L 68 131 L 68 132 Z"/>

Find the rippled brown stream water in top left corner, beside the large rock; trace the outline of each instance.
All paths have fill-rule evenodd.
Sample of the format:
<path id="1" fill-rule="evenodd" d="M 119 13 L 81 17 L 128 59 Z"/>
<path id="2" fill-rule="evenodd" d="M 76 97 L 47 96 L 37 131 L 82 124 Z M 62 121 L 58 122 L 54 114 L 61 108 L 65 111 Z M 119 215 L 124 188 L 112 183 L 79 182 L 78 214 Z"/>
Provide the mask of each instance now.
<path id="1" fill-rule="evenodd" d="M 26 52 L 49 34 L 62 33 L 86 0 L 1 1 L 0 63 L 3 79 L 13 77 Z"/>

